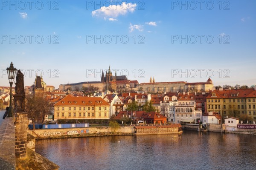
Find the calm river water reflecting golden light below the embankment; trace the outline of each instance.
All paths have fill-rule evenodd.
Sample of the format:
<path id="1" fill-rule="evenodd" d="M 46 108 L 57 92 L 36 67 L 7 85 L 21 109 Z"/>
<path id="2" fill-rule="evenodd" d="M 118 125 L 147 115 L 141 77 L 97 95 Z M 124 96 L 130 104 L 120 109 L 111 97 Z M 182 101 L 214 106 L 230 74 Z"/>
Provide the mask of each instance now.
<path id="1" fill-rule="evenodd" d="M 183 131 L 181 135 L 48 139 L 36 152 L 60 170 L 255 170 L 256 136 Z"/>

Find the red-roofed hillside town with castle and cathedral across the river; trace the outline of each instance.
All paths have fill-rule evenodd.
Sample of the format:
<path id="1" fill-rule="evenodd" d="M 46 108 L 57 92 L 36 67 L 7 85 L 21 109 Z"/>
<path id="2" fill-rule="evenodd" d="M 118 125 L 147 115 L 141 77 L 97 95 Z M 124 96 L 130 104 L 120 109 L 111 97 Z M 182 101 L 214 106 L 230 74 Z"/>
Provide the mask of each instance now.
<path id="1" fill-rule="evenodd" d="M 48 84 L 48 83 L 47 83 Z M 139 83 L 113 75 L 109 67 L 100 81 L 61 84 L 58 89 L 36 76 L 26 95 L 37 95 L 49 104 L 34 119 L 46 122 L 96 122 L 116 120 L 125 124 L 223 124 L 225 119 L 255 124 L 256 85 L 214 86 L 186 81 Z M 14 89 L 14 87 L 12 87 Z M 14 92 L 14 90 L 12 90 Z M 0 106 L 9 106 L 10 87 L 0 87 Z M 34 122 L 34 123 L 35 123 Z"/>

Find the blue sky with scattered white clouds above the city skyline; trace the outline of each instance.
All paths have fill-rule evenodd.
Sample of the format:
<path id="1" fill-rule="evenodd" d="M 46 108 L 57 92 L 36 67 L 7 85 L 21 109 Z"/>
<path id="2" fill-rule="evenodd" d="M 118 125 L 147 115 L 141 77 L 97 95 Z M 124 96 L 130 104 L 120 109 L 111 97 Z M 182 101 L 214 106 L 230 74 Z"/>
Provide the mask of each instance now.
<path id="1" fill-rule="evenodd" d="M 109 65 L 140 83 L 256 84 L 254 0 L 20 2 L 1 1 L 0 86 L 11 61 L 25 86 L 100 81 Z"/>

